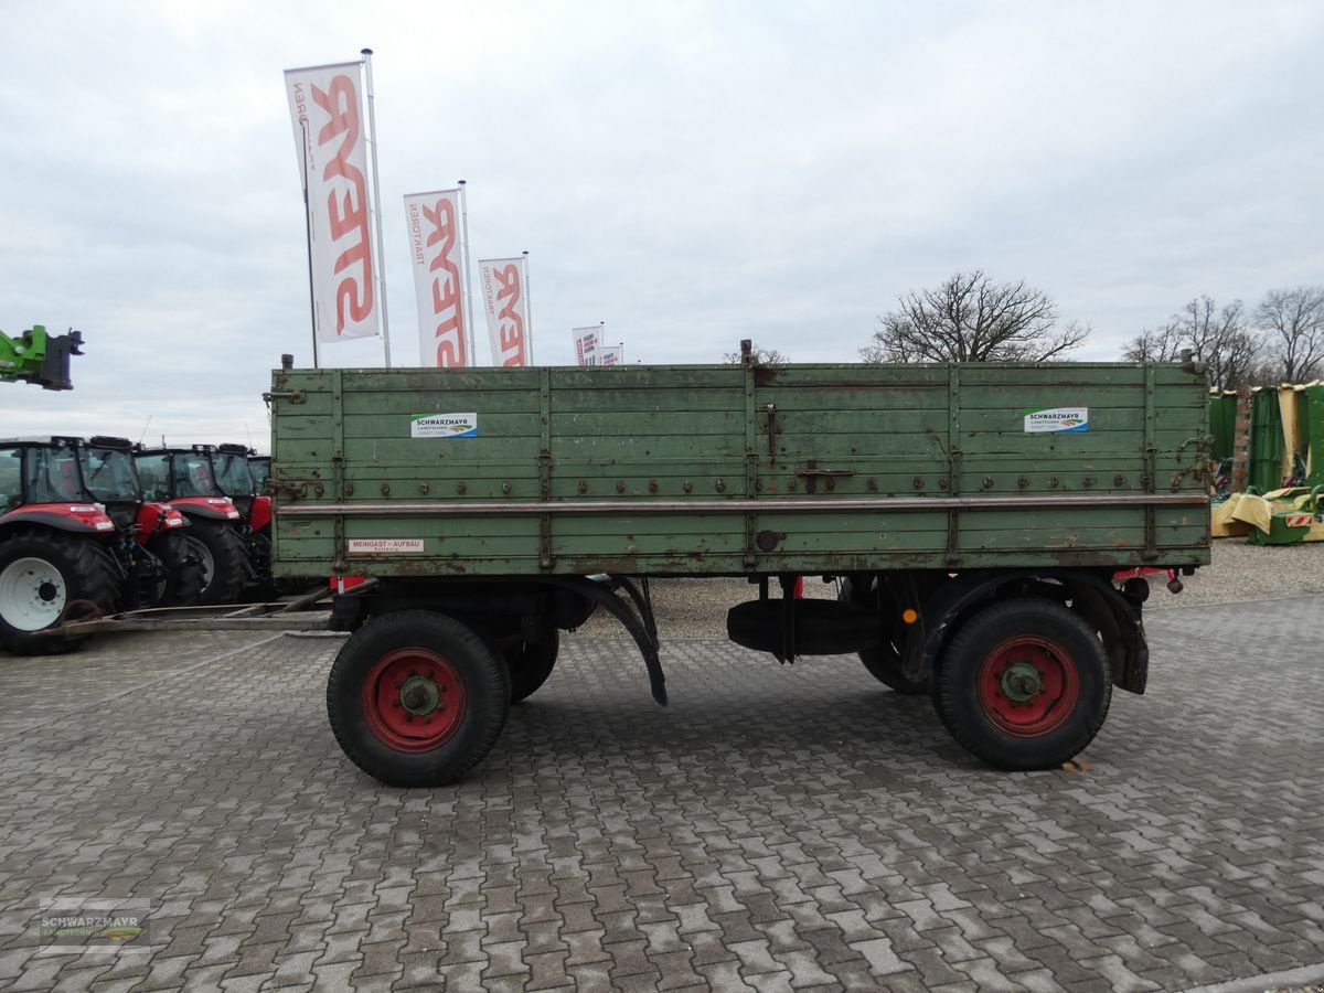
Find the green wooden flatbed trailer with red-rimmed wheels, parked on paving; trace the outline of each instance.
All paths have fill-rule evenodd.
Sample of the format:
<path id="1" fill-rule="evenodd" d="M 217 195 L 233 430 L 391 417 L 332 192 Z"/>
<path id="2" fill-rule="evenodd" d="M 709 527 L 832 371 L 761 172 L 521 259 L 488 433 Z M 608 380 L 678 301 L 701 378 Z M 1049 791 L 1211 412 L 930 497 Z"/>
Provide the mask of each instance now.
<path id="1" fill-rule="evenodd" d="M 1115 573 L 1209 563 L 1190 363 L 287 368 L 269 401 L 275 573 L 343 593 L 331 724 L 397 785 L 473 768 L 594 608 L 666 703 L 661 576 L 748 577 L 733 641 L 858 653 L 1046 768 L 1144 691 L 1148 584 Z"/>

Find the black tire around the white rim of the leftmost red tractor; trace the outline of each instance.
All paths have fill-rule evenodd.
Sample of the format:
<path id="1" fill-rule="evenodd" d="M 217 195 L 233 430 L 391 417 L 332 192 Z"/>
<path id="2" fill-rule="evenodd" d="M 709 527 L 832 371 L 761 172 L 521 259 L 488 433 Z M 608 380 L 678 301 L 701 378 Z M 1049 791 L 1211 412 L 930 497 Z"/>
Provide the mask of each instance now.
<path id="1" fill-rule="evenodd" d="M 50 565 L 64 587 L 64 602 L 87 601 L 103 614 L 119 609 L 119 573 L 110 553 L 101 544 L 102 536 L 62 531 L 17 531 L 0 540 L 0 576 L 20 559 L 38 559 Z M 81 616 L 85 612 L 74 612 Z M 15 621 L 15 624 L 11 624 Z M 34 636 L 16 626 L 19 617 L 5 617 L 0 602 L 0 649 L 15 655 L 61 655 L 77 649 L 87 637 L 57 638 Z M 53 628 L 54 618 L 45 625 Z"/>

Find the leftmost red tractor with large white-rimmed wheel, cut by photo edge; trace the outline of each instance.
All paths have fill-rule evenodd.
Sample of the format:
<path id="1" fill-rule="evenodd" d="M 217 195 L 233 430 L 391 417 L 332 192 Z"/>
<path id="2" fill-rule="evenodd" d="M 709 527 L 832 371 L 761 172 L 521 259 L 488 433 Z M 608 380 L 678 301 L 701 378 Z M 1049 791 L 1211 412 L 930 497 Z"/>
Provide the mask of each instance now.
<path id="1" fill-rule="evenodd" d="M 188 605 L 201 564 L 187 522 L 143 502 L 124 438 L 0 441 L 0 647 L 68 651 L 37 636 L 64 620 Z"/>

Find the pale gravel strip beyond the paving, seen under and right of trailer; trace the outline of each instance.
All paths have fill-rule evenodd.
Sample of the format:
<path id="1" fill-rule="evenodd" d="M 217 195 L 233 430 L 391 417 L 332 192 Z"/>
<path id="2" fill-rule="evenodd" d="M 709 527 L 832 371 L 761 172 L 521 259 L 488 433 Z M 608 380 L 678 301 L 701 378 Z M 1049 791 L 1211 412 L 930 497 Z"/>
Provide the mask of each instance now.
<path id="1" fill-rule="evenodd" d="M 1214 542 L 1213 564 L 1197 569 L 1194 576 L 1182 576 L 1181 581 L 1185 589 L 1174 596 L 1166 589 L 1166 579 L 1152 580 L 1147 609 L 1324 593 L 1324 542 L 1255 545 L 1237 539 L 1218 540 Z M 662 579 L 653 580 L 649 587 L 658 633 L 663 638 L 726 638 L 727 610 L 759 596 L 759 588 L 743 579 Z M 776 594 L 776 583 L 772 589 Z M 805 596 L 831 598 L 837 588 L 818 577 L 808 577 Z M 576 636 L 618 638 L 624 630 L 600 610 Z"/>

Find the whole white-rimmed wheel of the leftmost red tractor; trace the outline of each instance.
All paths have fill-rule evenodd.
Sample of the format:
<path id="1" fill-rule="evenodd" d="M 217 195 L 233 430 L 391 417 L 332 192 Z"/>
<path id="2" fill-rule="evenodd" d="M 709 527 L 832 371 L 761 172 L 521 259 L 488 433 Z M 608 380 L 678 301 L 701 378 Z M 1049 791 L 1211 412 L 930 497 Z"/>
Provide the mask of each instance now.
<path id="1" fill-rule="evenodd" d="M 21 531 L 0 542 L 0 649 L 16 655 L 73 651 L 86 638 L 36 632 L 90 613 L 115 613 L 115 563 L 90 535 Z"/>

